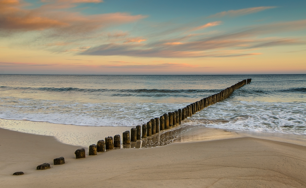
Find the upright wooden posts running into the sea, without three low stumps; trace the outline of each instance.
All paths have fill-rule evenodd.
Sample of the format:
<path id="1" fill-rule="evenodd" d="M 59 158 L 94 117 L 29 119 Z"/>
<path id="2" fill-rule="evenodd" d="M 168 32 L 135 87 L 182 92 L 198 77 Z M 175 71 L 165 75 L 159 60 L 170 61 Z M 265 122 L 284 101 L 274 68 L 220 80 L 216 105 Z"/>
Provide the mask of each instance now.
<path id="1" fill-rule="evenodd" d="M 202 110 L 203 108 L 215 104 L 216 102 L 222 101 L 228 98 L 234 90 L 242 87 L 244 84 L 249 84 L 252 79 L 244 79 L 235 85 L 228 87 L 221 92 L 211 95 L 209 97 L 203 98 L 200 101 L 196 101 L 185 108 L 175 110 L 174 112 L 168 112 L 160 117 L 155 117 L 151 119 L 142 127 L 137 125 L 136 128 L 133 127 L 130 131 L 125 131 L 122 133 L 122 144 L 128 145 L 131 142 L 136 142 L 141 138 L 147 138 L 148 136 L 155 135 L 159 131 L 167 130 L 181 124 L 181 121 L 191 117 L 196 112 Z M 142 133 L 142 135 L 141 135 Z M 88 155 L 97 155 L 97 152 L 105 152 L 110 149 L 121 147 L 120 135 L 115 135 L 113 137 L 107 137 L 104 140 L 99 140 L 97 145 L 92 144 L 89 146 Z M 75 151 L 76 158 L 85 158 L 85 149 L 77 149 Z"/>

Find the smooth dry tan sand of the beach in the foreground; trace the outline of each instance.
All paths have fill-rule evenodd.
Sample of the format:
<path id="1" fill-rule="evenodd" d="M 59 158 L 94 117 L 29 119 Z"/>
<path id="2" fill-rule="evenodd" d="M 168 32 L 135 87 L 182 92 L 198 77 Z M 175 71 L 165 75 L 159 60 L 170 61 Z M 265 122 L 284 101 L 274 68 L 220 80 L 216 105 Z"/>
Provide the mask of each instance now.
<path id="1" fill-rule="evenodd" d="M 304 135 L 200 128 L 180 134 L 181 142 L 166 146 L 75 159 L 80 146 L 1 128 L 1 187 L 306 187 Z M 66 163 L 53 165 L 57 157 Z M 43 163 L 51 168 L 36 170 Z"/>

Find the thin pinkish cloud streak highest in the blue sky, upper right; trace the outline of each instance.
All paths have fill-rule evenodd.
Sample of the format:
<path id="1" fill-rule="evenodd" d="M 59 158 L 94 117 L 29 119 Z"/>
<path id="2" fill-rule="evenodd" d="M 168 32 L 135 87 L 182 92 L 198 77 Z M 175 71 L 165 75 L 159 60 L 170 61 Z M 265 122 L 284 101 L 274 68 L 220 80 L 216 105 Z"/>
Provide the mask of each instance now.
<path id="1" fill-rule="evenodd" d="M 239 10 L 228 10 L 228 11 L 223 11 L 221 13 L 216 13 L 214 15 L 211 15 L 207 18 L 213 18 L 213 17 L 236 17 L 236 16 L 242 16 L 246 14 L 251 14 L 251 13 L 257 13 L 266 9 L 273 9 L 276 8 L 276 6 L 260 6 L 260 7 L 252 7 L 252 8 L 247 8 L 247 9 L 239 9 Z"/>

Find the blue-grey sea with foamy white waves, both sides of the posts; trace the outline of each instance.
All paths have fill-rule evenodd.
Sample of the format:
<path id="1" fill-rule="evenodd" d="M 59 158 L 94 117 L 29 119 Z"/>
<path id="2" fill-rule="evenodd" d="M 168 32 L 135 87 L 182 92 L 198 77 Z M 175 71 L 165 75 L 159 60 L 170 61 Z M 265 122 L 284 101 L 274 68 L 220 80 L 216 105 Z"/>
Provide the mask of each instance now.
<path id="1" fill-rule="evenodd" d="M 0 75 L 0 118 L 142 125 L 243 80 L 188 125 L 306 135 L 306 75 Z"/>

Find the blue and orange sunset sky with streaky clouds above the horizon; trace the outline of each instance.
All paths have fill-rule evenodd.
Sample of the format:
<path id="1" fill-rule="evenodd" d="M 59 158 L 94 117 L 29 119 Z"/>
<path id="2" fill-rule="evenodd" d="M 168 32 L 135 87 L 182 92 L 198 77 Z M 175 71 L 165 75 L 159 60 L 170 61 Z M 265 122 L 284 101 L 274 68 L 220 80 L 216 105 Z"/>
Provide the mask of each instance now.
<path id="1" fill-rule="evenodd" d="M 0 0 L 0 74 L 306 74 L 306 1 Z"/>

